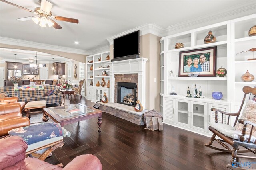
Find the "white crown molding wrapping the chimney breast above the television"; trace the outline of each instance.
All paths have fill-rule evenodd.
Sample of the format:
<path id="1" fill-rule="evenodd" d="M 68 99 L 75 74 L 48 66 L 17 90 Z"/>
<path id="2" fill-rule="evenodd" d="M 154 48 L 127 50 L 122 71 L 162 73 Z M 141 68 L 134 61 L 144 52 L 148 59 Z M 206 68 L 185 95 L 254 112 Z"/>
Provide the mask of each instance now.
<path id="1" fill-rule="evenodd" d="M 146 23 L 146 24 L 141 25 L 139 27 L 136 27 L 136 28 L 130 29 L 128 31 L 124 31 L 120 34 L 114 35 L 112 37 L 109 37 L 107 40 L 108 40 L 109 44 L 112 45 L 114 43 L 113 40 L 115 38 L 121 37 L 121 36 L 126 35 L 128 33 L 132 33 L 132 32 L 137 31 L 137 30 L 140 30 L 140 36 L 151 33 L 151 34 L 154 34 L 158 37 L 161 37 L 162 34 L 163 34 L 162 33 L 163 28 L 162 27 L 156 25 L 155 23 Z"/>

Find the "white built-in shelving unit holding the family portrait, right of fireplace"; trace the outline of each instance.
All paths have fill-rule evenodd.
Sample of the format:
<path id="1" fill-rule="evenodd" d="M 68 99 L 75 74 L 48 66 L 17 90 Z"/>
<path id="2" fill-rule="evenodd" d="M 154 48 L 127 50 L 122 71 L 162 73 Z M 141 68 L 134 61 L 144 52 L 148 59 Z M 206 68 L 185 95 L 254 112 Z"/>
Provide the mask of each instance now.
<path id="1" fill-rule="evenodd" d="M 256 80 L 242 82 L 240 79 L 246 70 L 256 76 L 256 60 L 247 60 L 253 55 L 256 58 L 256 52 L 235 55 L 256 47 L 256 36 L 248 36 L 248 30 L 253 25 L 256 25 L 256 14 L 169 35 L 160 40 L 160 108 L 164 123 L 209 136 L 208 123 L 215 122 L 215 115 L 210 111 L 212 107 L 227 112 L 238 111 L 243 98 L 242 88 L 256 85 Z M 204 38 L 209 31 L 212 31 L 217 41 L 204 44 Z M 183 43 L 184 48 L 175 49 L 178 42 Z M 216 70 L 220 67 L 226 68 L 228 74 L 225 77 L 178 77 L 181 51 L 215 46 Z M 171 70 L 173 77 L 169 75 Z M 203 96 L 206 98 L 185 96 L 188 86 L 192 93 L 195 83 L 198 89 L 199 86 L 202 87 Z M 172 87 L 178 95 L 169 94 Z M 214 100 L 211 96 L 214 91 L 222 92 L 223 98 Z M 224 123 L 227 121 L 224 116 Z M 230 121 L 232 123 L 233 119 Z"/>

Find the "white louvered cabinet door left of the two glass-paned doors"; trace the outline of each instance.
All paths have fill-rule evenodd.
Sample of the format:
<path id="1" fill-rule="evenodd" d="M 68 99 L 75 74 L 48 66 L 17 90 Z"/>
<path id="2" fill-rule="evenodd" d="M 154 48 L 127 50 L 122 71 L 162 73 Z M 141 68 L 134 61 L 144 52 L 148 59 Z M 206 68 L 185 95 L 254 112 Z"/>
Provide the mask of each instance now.
<path id="1" fill-rule="evenodd" d="M 164 102 L 164 107 L 163 107 L 163 118 L 165 123 L 174 123 L 175 120 L 175 112 L 174 112 L 174 101 L 175 99 L 171 98 L 163 98 Z"/>

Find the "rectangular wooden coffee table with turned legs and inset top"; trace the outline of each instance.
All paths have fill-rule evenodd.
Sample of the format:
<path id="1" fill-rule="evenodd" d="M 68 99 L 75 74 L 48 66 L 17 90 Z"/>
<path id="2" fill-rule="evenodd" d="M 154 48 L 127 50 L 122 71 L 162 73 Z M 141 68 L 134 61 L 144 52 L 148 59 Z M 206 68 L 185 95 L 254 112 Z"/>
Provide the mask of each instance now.
<path id="1" fill-rule="evenodd" d="M 72 110 L 77 110 L 76 113 L 70 113 Z M 54 122 L 60 123 L 63 127 L 64 125 L 68 125 L 70 123 L 79 122 L 82 120 L 91 119 L 93 117 L 98 117 L 98 132 L 101 132 L 101 124 L 102 124 L 102 111 L 98 109 L 94 109 L 92 107 L 86 106 L 84 104 L 70 104 L 66 106 L 57 106 L 44 108 L 43 121 L 48 121 L 48 117 L 50 117 Z M 69 111 L 65 111 L 69 110 Z"/>

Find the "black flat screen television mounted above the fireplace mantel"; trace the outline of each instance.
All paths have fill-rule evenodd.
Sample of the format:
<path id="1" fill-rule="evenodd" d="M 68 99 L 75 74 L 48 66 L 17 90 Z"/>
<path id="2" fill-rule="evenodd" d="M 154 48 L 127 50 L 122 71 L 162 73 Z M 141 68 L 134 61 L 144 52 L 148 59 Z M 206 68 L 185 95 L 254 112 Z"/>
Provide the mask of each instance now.
<path id="1" fill-rule="evenodd" d="M 114 59 L 140 54 L 140 30 L 114 39 Z"/>

